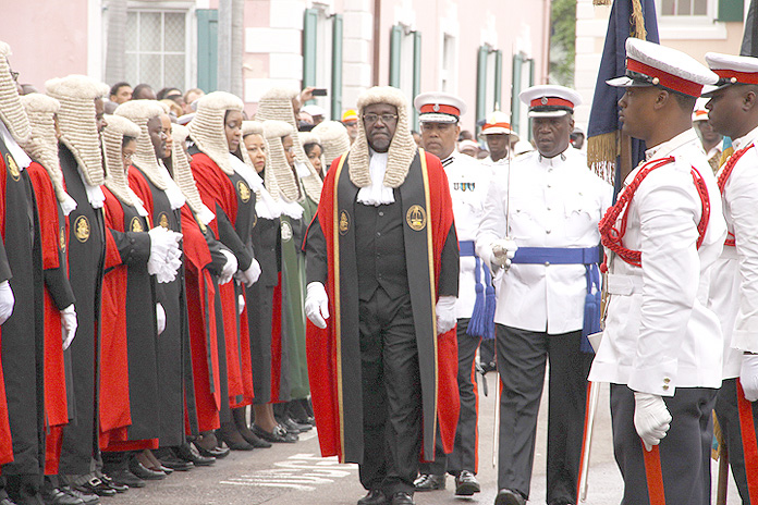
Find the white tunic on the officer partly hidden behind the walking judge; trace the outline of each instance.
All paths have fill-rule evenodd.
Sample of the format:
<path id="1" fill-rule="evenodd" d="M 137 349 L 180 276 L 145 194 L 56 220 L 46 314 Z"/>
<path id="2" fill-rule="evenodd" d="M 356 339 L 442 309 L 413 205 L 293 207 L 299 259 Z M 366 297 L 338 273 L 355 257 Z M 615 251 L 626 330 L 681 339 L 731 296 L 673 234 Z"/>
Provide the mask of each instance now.
<path id="1" fill-rule="evenodd" d="M 442 160 L 442 167 L 450 183 L 457 239 L 459 242 L 475 241 L 485 211 L 485 198 L 492 172 L 489 167 L 461 152 L 453 152 Z M 473 256 L 461 256 L 459 298 L 455 304 L 455 317 L 459 319 L 470 318 L 474 311 L 475 267 L 476 259 Z M 484 273 L 480 275 L 480 282 L 485 285 Z"/>

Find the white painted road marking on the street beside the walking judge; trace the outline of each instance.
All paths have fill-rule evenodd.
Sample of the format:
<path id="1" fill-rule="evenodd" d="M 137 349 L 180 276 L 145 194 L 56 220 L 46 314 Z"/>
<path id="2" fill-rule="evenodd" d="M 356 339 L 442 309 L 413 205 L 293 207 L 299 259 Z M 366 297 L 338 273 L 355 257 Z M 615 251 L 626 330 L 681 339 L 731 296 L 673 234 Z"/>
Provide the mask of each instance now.
<path id="1" fill-rule="evenodd" d="M 334 479 L 345 478 L 357 470 L 357 465 L 343 465 L 337 457 L 322 458 L 315 454 L 295 454 L 276 468 L 258 470 L 222 480 L 221 484 L 260 488 L 285 488 L 298 491 L 316 491 L 316 485 L 330 484 Z"/>

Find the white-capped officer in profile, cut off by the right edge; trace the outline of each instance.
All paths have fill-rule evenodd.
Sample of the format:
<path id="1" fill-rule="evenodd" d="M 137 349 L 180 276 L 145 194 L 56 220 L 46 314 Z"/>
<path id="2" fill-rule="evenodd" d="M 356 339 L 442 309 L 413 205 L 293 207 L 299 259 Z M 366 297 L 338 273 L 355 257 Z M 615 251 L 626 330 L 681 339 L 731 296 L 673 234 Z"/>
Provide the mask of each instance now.
<path id="1" fill-rule="evenodd" d="M 720 77 L 719 87 L 704 95 L 710 99 L 707 118 L 734 148 L 718 174 L 729 235 L 711 271 L 708 299 L 724 334 L 716 416 L 737 491 L 750 503 L 748 488 L 757 483 L 758 467 L 745 457 L 743 444 L 755 444 L 758 426 L 758 356 L 753 354 L 758 353 L 758 58 L 709 52 L 706 62 Z"/>

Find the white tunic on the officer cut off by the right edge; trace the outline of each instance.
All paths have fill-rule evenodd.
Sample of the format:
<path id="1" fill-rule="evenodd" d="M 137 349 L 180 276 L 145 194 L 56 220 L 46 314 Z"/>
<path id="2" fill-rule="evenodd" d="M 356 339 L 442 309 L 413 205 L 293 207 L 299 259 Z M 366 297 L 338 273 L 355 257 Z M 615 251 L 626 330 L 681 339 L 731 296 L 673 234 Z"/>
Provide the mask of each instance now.
<path id="1" fill-rule="evenodd" d="M 758 141 L 758 128 L 732 145 Z M 723 168 L 722 168 L 723 169 Z M 711 271 L 709 307 L 724 335 L 723 378 L 739 377 L 743 350 L 758 352 L 758 149 L 747 150 L 726 180 L 722 204 L 726 229 L 738 238 L 724 246 Z"/>

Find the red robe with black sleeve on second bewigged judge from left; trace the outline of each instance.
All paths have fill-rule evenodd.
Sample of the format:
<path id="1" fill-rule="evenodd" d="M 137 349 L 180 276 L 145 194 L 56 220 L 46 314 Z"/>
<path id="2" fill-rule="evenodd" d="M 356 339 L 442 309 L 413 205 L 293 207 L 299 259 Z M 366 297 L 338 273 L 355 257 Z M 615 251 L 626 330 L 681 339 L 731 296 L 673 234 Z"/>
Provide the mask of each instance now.
<path id="1" fill-rule="evenodd" d="M 45 473 L 57 475 L 63 442 L 63 426 L 69 422 L 65 366 L 60 311 L 74 303 L 69 284 L 69 220 L 63 214 L 50 175 L 36 161 L 27 168 L 34 187 L 42 244 L 45 270 Z"/>

